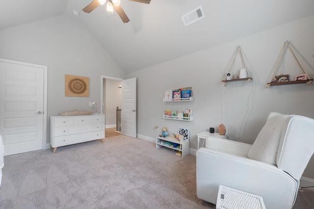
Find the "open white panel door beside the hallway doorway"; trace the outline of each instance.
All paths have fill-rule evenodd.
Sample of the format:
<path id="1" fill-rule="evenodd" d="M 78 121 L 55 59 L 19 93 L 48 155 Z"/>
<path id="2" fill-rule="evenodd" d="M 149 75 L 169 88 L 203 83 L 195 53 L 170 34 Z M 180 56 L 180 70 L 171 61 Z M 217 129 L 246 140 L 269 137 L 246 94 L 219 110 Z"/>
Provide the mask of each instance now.
<path id="1" fill-rule="evenodd" d="M 121 133 L 136 138 L 136 78 L 122 81 Z"/>

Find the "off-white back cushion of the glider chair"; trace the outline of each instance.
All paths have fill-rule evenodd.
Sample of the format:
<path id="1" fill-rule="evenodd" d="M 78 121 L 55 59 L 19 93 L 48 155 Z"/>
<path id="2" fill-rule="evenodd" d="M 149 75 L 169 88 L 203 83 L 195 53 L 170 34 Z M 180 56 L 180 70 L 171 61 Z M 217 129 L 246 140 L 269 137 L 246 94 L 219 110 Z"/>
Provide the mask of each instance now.
<path id="1" fill-rule="evenodd" d="M 276 165 L 279 141 L 287 117 L 276 114 L 267 119 L 248 152 L 249 159 Z"/>

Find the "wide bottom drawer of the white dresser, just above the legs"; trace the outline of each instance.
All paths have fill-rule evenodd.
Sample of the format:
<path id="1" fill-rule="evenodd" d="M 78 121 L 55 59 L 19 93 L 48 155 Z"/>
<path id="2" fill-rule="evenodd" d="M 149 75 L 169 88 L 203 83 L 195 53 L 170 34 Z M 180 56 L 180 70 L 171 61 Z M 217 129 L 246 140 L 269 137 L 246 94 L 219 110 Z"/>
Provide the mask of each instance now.
<path id="1" fill-rule="evenodd" d="M 54 137 L 53 147 L 65 146 L 69 144 L 76 144 L 84 141 L 91 141 L 96 139 L 104 139 L 105 131 L 94 131 L 82 134 L 73 134 L 68 136 Z"/>

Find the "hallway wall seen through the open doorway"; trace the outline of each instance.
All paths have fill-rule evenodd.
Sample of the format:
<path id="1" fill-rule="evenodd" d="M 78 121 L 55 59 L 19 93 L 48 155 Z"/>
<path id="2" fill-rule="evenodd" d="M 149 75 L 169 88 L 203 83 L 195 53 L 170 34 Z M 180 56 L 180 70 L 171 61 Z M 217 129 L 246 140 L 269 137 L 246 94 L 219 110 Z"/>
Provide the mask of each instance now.
<path id="1" fill-rule="evenodd" d="M 116 109 L 121 109 L 122 104 L 122 89 L 119 89 L 121 81 L 104 79 L 105 80 L 105 115 L 106 128 L 116 127 Z"/>

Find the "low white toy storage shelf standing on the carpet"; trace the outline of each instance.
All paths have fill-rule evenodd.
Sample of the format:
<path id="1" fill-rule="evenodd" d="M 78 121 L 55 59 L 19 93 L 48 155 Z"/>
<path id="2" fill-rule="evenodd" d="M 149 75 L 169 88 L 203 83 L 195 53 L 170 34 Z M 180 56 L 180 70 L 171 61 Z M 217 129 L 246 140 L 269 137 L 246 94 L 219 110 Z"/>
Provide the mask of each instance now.
<path id="1" fill-rule="evenodd" d="M 179 147 L 173 147 L 172 145 L 176 143 L 181 145 Z M 190 154 L 190 142 L 189 141 L 179 141 L 173 137 L 156 137 L 156 149 L 158 148 L 164 148 L 164 149 L 169 149 L 175 153 L 180 153 L 181 152 L 181 157 L 187 156 Z M 178 155 L 178 154 L 176 154 Z"/>

